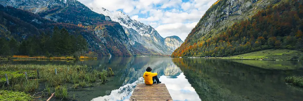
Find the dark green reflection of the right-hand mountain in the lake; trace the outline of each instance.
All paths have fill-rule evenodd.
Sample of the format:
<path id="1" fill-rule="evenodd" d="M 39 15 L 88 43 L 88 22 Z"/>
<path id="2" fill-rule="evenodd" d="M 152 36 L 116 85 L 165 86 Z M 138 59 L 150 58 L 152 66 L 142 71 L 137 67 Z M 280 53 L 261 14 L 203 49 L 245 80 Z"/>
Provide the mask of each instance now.
<path id="1" fill-rule="evenodd" d="M 302 75 L 302 69 L 271 70 L 220 59 L 175 58 L 173 62 L 201 100 L 303 100 L 300 90 L 284 82 L 287 75 Z"/>

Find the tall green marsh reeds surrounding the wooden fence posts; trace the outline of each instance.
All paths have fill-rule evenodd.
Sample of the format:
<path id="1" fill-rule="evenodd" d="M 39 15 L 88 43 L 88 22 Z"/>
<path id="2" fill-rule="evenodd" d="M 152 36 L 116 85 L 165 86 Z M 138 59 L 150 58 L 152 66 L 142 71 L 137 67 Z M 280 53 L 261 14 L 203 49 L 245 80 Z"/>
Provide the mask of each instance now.
<path id="1" fill-rule="evenodd" d="M 0 69 L 1 90 L 31 93 L 45 85 L 43 93 L 46 96 L 55 92 L 55 96 L 61 99 L 70 98 L 67 94 L 68 88 L 89 87 L 92 82 L 105 83 L 108 81 L 108 76 L 113 76 L 111 70 L 97 71 L 92 67 L 79 65 L 2 64 Z M 57 74 L 55 74 L 55 69 Z M 39 76 L 37 70 L 39 70 Z M 25 72 L 27 72 L 27 77 Z M 6 84 L 5 74 L 8 75 L 9 85 Z M 72 86 L 67 86 L 67 84 Z"/>

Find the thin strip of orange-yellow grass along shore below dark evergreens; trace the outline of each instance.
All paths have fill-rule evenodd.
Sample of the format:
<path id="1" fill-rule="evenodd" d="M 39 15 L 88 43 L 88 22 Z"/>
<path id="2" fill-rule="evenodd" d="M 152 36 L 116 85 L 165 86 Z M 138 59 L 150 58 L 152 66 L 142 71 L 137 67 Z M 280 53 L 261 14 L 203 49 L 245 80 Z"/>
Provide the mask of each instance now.
<path id="1" fill-rule="evenodd" d="M 74 58 L 72 56 L 61 56 L 61 57 L 46 57 L 46 56 L 12 56 L 12 59 L 38 59 L 38 60 L 75 60 L 75 59 L 97 59 L 97 57 L 90 58 L 88 56 L 80 56 Z"/>

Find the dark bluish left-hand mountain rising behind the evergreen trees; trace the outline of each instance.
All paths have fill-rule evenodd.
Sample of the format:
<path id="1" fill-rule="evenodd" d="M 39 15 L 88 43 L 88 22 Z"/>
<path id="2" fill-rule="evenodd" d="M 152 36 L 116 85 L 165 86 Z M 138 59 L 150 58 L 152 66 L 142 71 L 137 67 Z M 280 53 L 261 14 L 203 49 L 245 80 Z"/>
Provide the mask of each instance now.
<path id="1" fill-rule="evenodd" d="M 119 23 L 93 12 L 77 0 L 5 0 L 0 4 L 3 5 L 0 10 L 1 37 L 21 41 L 48 33 L 58 26 L 74 35 L 83 35 L 88 48 L 100 56 L 132 56 L 138 53 Z"/>

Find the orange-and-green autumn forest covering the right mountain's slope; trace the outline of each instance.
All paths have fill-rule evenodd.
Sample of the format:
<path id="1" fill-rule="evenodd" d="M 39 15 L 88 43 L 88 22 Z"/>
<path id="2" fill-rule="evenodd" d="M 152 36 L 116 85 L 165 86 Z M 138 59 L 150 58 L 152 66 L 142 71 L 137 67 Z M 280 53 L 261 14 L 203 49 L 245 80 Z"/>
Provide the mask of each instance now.
<path id="1" fill-rule="evenodd" d="M 217 30 L 217 34 L 197 37 L 200 25 L 204 25 L 201 20 L 172 57 L 233 56 L 263 49 L 303 52 L 303 2 L 300 0 L 275 1 L 248 19 L 223 29 L 212 29 Z"/>

